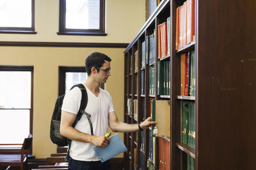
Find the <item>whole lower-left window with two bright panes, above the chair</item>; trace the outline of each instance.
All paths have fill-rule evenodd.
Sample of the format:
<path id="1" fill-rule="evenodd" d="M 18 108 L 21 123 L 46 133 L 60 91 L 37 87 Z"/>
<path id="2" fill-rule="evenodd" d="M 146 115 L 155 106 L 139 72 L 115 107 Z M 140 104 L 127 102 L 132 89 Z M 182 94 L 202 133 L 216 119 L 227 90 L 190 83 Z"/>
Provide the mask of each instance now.
<path id="1" fill-rule="evenodd" d="M 1 144 L 23 143 L 33 134 L 32 101 L 33 66 L 0 66 Z"/>

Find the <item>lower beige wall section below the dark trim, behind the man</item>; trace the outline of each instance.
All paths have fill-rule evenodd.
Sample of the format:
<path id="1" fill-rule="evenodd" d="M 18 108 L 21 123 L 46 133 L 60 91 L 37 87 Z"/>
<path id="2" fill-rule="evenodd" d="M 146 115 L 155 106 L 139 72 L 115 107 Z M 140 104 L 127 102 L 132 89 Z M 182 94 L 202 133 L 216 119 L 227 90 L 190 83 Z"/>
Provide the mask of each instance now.
<path id="1" fill-rule="evenodd" d="M 49 138 L 49 125 L 58 97 L 58 66 L 84 66 L 84 57 L 95 51 L 111 57 L 111 76 L 106 83 L 106 90 L 113 98 L 118 118 L 124 120 L 124 50 L 0 47 L 1 65 L 34 66 L 33 155 L 36 158 L 45 158 L 56 152 L 56 145 Z M 122 133 L 120 135 L 123 136 Z"/>

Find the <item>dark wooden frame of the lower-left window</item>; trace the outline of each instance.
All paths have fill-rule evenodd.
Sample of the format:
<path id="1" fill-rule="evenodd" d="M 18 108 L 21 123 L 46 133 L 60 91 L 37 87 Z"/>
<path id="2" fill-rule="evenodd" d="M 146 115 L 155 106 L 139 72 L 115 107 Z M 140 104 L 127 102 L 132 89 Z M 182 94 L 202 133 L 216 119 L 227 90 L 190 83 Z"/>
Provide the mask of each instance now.
<path id="1" fill-rule="evenodd" d="M 29 113 L 29 133 L 33 135 L 33 89 L 34 89 L 34 67 L 33 66 L 0 66 L 0 71 L 31 71 L 31 106 L 30 106 L 30 113 Z M 1 109 L 4 110 L 4 109 Z M 8 109 L 10 110 L 10 109 Z M 15 110 L 15 109 L 13 109 Z M 29 148 L 29 154 L 32 154 L 32 146 Z M 16 150 L 0 150 L 2 152 L 12 152 L 16 153 Z"/>

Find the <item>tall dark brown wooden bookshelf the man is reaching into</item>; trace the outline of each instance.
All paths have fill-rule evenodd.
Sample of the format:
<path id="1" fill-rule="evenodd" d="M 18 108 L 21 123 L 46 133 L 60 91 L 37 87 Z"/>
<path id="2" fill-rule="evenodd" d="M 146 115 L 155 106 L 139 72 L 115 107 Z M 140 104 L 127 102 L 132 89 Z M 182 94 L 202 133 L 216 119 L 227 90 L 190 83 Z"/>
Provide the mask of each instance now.
<path id="1" fill-rule="evenodd" d="M 187 0 L 189 1 L 189 0 Z M 124 113 L 127 111 L 127 100 L 138 100 L 138 120 L 132 114 L 124 114 L 124 121 L 129 124 L 138 124 L 150 117 L 150 100 L 170 101 L 170 137 L 155 137 L 154 159 L 150 158 L 150 130 L 143 134 L 140 132 L 126 133 L 124 143 L 128 151 L 124 153 L 124 169 L 134 169 L 134 154 L 137 155 L 136 167 L 148 169 L 148 162 L 154 169 L 163 169 L 159 164 L 158 139 L 163 138 L 170 143 L 170 169 L 185 170 L 188 166 L 193 169 L 255 169 L 253 164 L 256 129 L 256 20 L 255 1 L 221 1 L 211 0 L 198 3 L 195 0 L 195 37 L 193 41 L 176 48 L 176 10 L 184 6 L 183 0 L 163 0 L 147 22 L 134 35 L 131 43 L 125 49 L 125 92 Z M 217 11 L 216 11 L 217 10 Z M 158 58 L 163 46 L 158 46 L 158 25 L 166 22 L 170 17 L 170 31 L 168 48 L 170 53 Z M 152 38 L 154 34 L 154 38 Z M 150 37 L 151 36 L 151 37 Z M 145 46 L 142 46 L 145 41 Z M 154 43 L 154 50 L 148 52 L 149 46 Z M 138 50 L 138 63 L 134 63 L 134 53 Z M 145 54 L 146 53 L 146 54 Z M 154 55 L 153 60 L 148 60 L 141 67 L 142 56 Z M 194 65 L 186 66 L 189 77 L 194 74 L 195 82 L 186 82 L 182 92 L 182 57 L 188 57 L 188 62 Z M 194 56 L 195 60 L 191 60 Z M 184 58 L 183 58 L 184 59 Z M 164 65 L 168 74 L 163 81 L 169 89 L 164 94 L 159 94 L 161 74 L 157 74 L 159 63 Z M 185 62 L 186 63 L 186 62 Z M 138 71 L 134 72 L 134 67 Z M 152 72 L 155 71 L 155 72 Z M 195 73 L 193 73 L 195 71 Z M 142 74 L 143 72 L 143 74 Z M 169 74 L 170 72 L 170 74 Z M 152 79 L 152 74 L 154 74 Z M 159 77 L 158 77 L 159 76 Z M 168 79 L 169 78 L 169 79 Z M 142 85 L 142 80 L 144 85 Z M 187 81 L 187 80 L 186 80 Z M 159 83 L 160 82 L 160 83 Z M 154 85 L 153 85 L 154 83 Z M 142 86 L 141 86 L 142 85 Z M 161 86 L 161 85 L 160 85 Z M 166 86 L 164 86 L 166 88 Z M 192 91 L 189 91 L 192 90 Z M 144 90 L 144 94 L 141 94 Z M 183 89 L 184 90 L 184 89 Z M 195 93 L 195 94 L 193 94 Z M 188 106 L 184 108 L 184 106 Z M 132 106 L 133 107 L 133 106 Z M 190 107 L 190 108 L 189 108 Z M 185 111 L 184 111 L 185 110 Z M 187 114 L 188 115 L 185 115 Z M 156 113 L 157 114 L 157 113 Z M 186 116 L 186 117 L 185 117 Z M 184 117 L 190 119 L 187 139 L 184 133 L 186 124 Z M 193 118 L 194 117 L 194 118 Z M 185 121 L 186 122 L 186 121 Z M 157 122 L 161 123 L 161 122 Z M 187 129 L 186 129 L 187 130 Z M 141 139 L 144 138 L 143 143 Z M 187 141 L 186 141 L 187 140 Z M 144 146 L 144 148 L 141 148 Z M 136 148 L 136 152 L 134 152 Z M 191 162 L 187 159 L 191 158 Z"/>

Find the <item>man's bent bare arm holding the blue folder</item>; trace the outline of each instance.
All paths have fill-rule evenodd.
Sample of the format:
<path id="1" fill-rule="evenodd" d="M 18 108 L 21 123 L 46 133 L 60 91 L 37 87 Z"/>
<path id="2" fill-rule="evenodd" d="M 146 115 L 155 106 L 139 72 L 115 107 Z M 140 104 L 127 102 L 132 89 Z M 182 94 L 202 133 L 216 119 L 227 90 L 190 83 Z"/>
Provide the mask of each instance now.
<path id="1" fill-rule="evenodd" d="M 76 114 L 67 111 L 61 111 L 60 133 L 68 139 L 84 143 L 92 143 L 95 146 L 108 146 L 109 139 L 106 136 L 92 136 L 78 131 L 72 124 L 76 120 Z"/>

